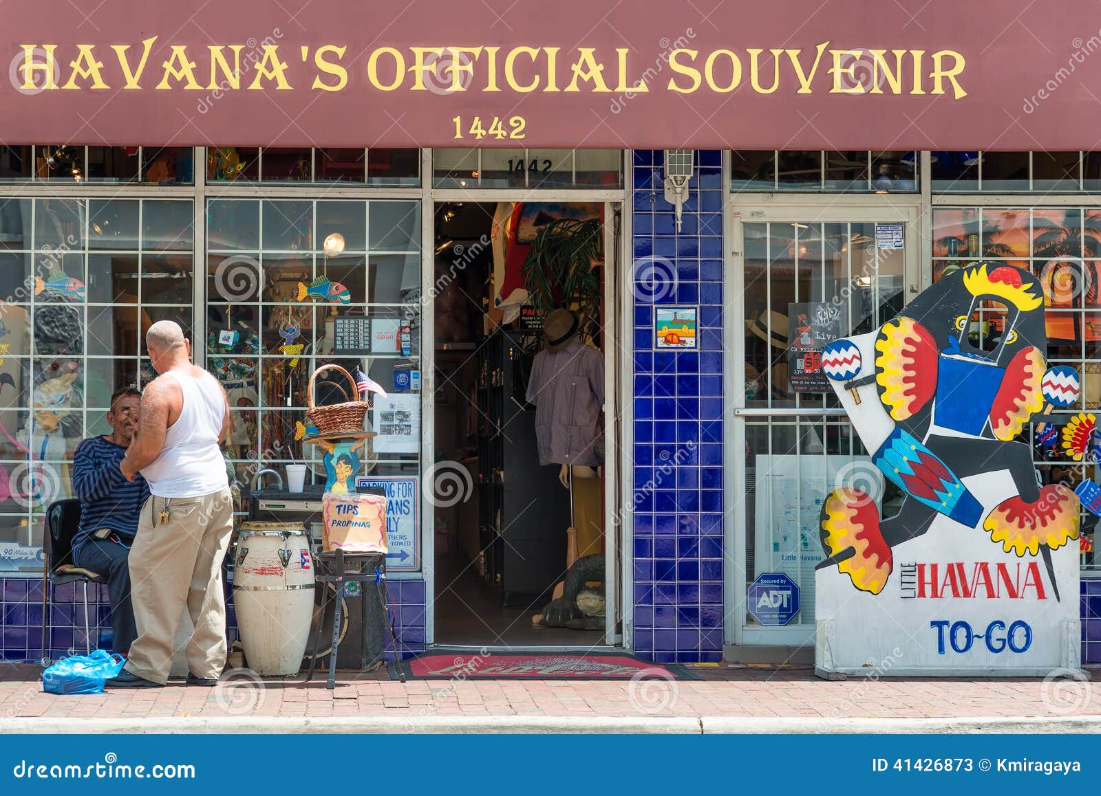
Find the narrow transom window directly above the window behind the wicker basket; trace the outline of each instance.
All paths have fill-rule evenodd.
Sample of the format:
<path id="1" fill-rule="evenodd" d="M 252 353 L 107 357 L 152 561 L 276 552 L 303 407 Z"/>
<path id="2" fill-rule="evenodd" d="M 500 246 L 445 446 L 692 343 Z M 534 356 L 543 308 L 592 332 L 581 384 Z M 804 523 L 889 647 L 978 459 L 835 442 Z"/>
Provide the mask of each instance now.
<path id="1" fill-rule="evenodd" d="M 209 183 L 421 185 L 419 150 L 216 146 L 206 153 Z"/>

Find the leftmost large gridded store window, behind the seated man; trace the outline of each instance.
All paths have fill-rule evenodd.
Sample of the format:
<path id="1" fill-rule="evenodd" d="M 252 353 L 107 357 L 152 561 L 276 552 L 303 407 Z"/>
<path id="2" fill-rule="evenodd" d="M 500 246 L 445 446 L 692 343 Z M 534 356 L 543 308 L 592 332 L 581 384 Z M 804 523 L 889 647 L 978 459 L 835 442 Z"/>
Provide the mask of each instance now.
<path id="1" fill-rule="evenodd" d="M 80 440 L 110 432 L 116 389 L 152 376 L 144 330 L 190 334 L 193 213 L 176 199 L 0 201 L 0 541 L 42 543 Z"/>

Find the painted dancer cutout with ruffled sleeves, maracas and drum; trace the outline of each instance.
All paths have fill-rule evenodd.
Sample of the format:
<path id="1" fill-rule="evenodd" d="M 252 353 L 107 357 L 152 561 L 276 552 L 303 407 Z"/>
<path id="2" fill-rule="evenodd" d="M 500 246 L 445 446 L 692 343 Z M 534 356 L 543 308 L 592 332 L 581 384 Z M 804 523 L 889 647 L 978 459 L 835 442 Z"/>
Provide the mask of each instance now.
<path id="1" fill-rule="evenodd" d="M 818 568 L 837 566 L 858 589 L 879 594 L 892 549 L 945 515 L 1007 553 L 1043 555 L 1050 575 L 1050 551 L 1078 538 L 1078 498 L 1061 484 L 1038 487 L 1029 445 L 1013 440 L 1045 396 L 1059 403 L 1055 396 L 1077 389 L 1077 379 L 1046 369 L 1040 286 L 1021 268 L 977 264 L 945 276 L 904 313 L 822 352 L 873 463 L 905 498 L 881 520 L 866 494 L 835 489 L 822 505 L 828 557 Z M 995 471 L 1009 471 L 1014 495 L 988 510 L 963 479 Z"/>

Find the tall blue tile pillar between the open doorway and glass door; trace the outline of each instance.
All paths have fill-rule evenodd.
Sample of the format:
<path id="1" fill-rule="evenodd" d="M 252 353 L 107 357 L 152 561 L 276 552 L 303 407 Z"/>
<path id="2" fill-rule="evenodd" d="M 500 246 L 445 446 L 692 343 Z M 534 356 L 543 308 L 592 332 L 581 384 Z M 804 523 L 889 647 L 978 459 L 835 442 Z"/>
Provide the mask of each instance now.
<path id="1" fill-rule="evenodd" d="M 722 153 L 695 153 L 680 231 L 664 153 L 632 168 L 634 651 L 722 657 Z M 699 307 L 697 349 L 657 350 L 654 307 Z"/>

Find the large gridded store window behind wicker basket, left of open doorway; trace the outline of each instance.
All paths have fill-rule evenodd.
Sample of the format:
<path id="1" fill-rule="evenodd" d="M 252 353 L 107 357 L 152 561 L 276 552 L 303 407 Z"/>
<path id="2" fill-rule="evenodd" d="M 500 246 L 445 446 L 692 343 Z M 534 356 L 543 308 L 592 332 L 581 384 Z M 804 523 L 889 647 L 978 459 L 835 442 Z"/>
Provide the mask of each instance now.
<path id="1" fill-rule="evenodd" d="M 419 472 L 419 395 L 393 390 L 414 384 L 399 374 L 421 371 L 418 201 L 212 199 L 206 270 L 207 367 L 229 396 L 228 455 L 246 494 L 258 462 L 280 472 L 306 463 L 307 483 L 325 482 L 324 451 L 303 444 L 297 427 L 310 373 L 325 363 L 362 371 L 400 405 L 383 414 L 375 397 L 379 435 L 359 451 L 360 474 Z M 325 378 L 316 395 L 347 400 L 346 389 Z"/>

